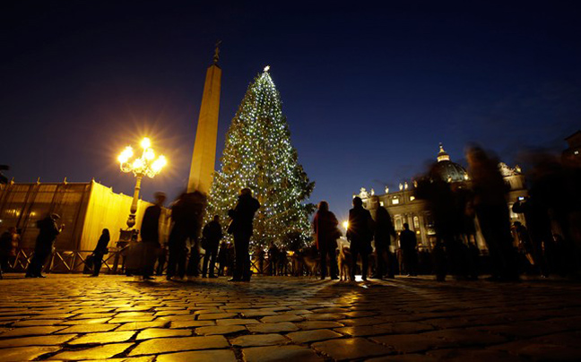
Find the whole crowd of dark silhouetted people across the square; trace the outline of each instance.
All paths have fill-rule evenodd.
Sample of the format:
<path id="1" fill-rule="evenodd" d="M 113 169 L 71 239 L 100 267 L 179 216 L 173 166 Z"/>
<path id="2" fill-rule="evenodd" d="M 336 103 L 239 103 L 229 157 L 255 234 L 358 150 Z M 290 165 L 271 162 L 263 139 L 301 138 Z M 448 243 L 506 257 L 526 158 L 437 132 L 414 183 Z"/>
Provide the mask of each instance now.
<path id="1" fill-rule="evenodd" d="M 270 275 L 284 275 L 291 263 L 295 275 L 307 272 L 332 280 L 339 279 L 342 273 L 355 280 L 358 271 L 362 280 L 367 280 L 369 273 L 371 278 L 391 279 L 397 272 L 410 276 L 433 273 L 437 280 L 446 280 L 447 275 L 475 280 L 482 273 L 490 274 L 490 280 L 506 281 L 518 280 L 523 272 L 543 277 L 554 273 L 577 275 L 581 249 L 579 165 L 546 154 L 535 155 L 527 176 L 528 195 L 512 205 L 512 212 L 524 215 L 525 225 L 519 221 L 511 225 L 508 188 L 499 170 L 499 160 L 479 147 L 469 149 L 466 159 L 468 183 L 448 182 L 434 169 L 416 180 L 414 195 L 426 201 L 433 220 L 435 236 L 429 240 L 429 246 L 419 245 L 416 233 L 407 223 L 397 232 L 389 212 L 379 203 L 372 215 L 360 197 L 354 197 L 345 235 L 348 245 L 338 243 L 343 232 L 329 204 L 322 201 L 313 219 L 313 246 L 293 250 L 291 254 L 274 242 L 266 251 L 256 247 L 254 267 Z M 155 199 L 143 214 L 142 241 L 130 243 L 124 251 L 128 275 L 152 280 L 154 273 L 163 273 L 167 263 L 166 278 L 182 280 L 199 276 L 202 261 L 204 278 L 228 274 L 232 281 L 250 280 L 250 238 L 260 203 L 249 188 L 240 190 L 238 203 L 228 212 L 227 227 L 221 224 L 218 215 L 203 227 L 205 195 L 181 194 L 170 206 L 167 243 L 160 243 L 166 196 L 158 193 Z M 58 224 L 59 219 L 56 213 L 51 213 L 37 222 L 39 235 L 26 277 L 44 277 L 41 271 L 53 252 L 56 237 L 65 227 Z M 476 245 L 476 223 L 486 243 L 484 254 Z M 233 243 L 224 240 L 223 231 L 232 236 Z M 19 234 L 15 228 L 8 228 L 0 236 L 0 278 L 13 257 Z M 136 238 L 135 235 L 134 241 Z M 109 241 L 105 228 L 91 254 L 92 276 L 99 276 Z M 203 258 L 200 247 L 204 249 Z"/>

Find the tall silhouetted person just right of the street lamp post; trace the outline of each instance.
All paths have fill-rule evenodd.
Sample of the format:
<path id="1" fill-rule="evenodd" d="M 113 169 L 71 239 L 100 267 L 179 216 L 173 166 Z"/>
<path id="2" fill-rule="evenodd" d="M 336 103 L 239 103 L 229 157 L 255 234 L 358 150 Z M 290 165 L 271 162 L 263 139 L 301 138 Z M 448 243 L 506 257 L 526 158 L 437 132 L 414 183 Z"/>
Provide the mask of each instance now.
<path id="1" fill-rule="evenodd" d="M 160 248 L 160 216 L 161 206 L 165 203 L 166 195 L 155 193 L 155 204 L 145 209 L 143 214 L 141 237 L 143 242 L 143 280 L 153 280 L 153 266 L 155 256 Z"/>

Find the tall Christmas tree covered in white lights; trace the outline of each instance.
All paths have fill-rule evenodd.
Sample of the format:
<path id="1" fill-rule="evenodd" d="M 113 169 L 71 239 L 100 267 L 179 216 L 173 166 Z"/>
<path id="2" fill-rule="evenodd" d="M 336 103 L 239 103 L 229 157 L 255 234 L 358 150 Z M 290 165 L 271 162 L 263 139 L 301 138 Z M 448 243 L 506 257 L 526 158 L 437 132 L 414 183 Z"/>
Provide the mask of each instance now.
<path id="1" fill-rule="evenodd" d="M 232 119 L 213 177 L 207 218 L 220 215 L 226 224 L 238 192 L 248 187 L 261 204 L 254 221 L 251 244 L 304 245 L 310 238 L 309 215 L 315 205 L 305 203 L 315 187 L 298 163 L 291 133 L 282 115 L 281 96 L 268 73 L 256 76 Z"/>

